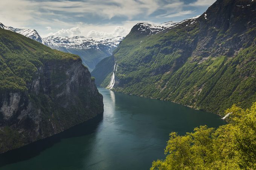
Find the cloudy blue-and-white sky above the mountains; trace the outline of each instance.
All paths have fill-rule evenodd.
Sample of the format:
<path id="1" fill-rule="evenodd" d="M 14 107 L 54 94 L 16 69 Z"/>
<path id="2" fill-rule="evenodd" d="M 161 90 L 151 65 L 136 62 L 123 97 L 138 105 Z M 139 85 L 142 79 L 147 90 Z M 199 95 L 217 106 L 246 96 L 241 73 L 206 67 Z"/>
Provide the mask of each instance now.
<path id="1" fill-rule="evenodd" d="M 203 14 L 215 0 L 0 0 L 0 23 L 41 37 L 127 35 L 137 23 Z"/>

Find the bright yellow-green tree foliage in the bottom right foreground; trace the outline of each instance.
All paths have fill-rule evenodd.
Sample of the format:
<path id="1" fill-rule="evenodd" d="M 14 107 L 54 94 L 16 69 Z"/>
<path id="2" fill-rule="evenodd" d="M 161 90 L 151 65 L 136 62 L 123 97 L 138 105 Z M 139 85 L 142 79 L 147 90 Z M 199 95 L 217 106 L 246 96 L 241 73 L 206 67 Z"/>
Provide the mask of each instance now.
<path id="1" fill-rule="evenodd" d="M 170 134 L 165 160 L 154 169 L 256 169 L 256 102 L 243 110 L 233 105 L 227 125 L 217 129 L 200 126 L 184 136 Z"/>

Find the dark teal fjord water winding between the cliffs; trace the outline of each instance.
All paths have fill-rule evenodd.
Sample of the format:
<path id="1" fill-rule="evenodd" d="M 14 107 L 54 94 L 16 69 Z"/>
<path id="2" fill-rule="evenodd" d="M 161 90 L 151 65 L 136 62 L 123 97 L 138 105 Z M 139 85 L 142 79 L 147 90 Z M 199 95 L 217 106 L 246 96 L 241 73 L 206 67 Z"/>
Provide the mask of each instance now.
<path id="1" fill-rule="evenodd" d="M 149 169 L 164 158 L 169 133 L 225 124 L 216 114 L 99 88 L 104 114 L 0 155 L 0 169 Z"/>

